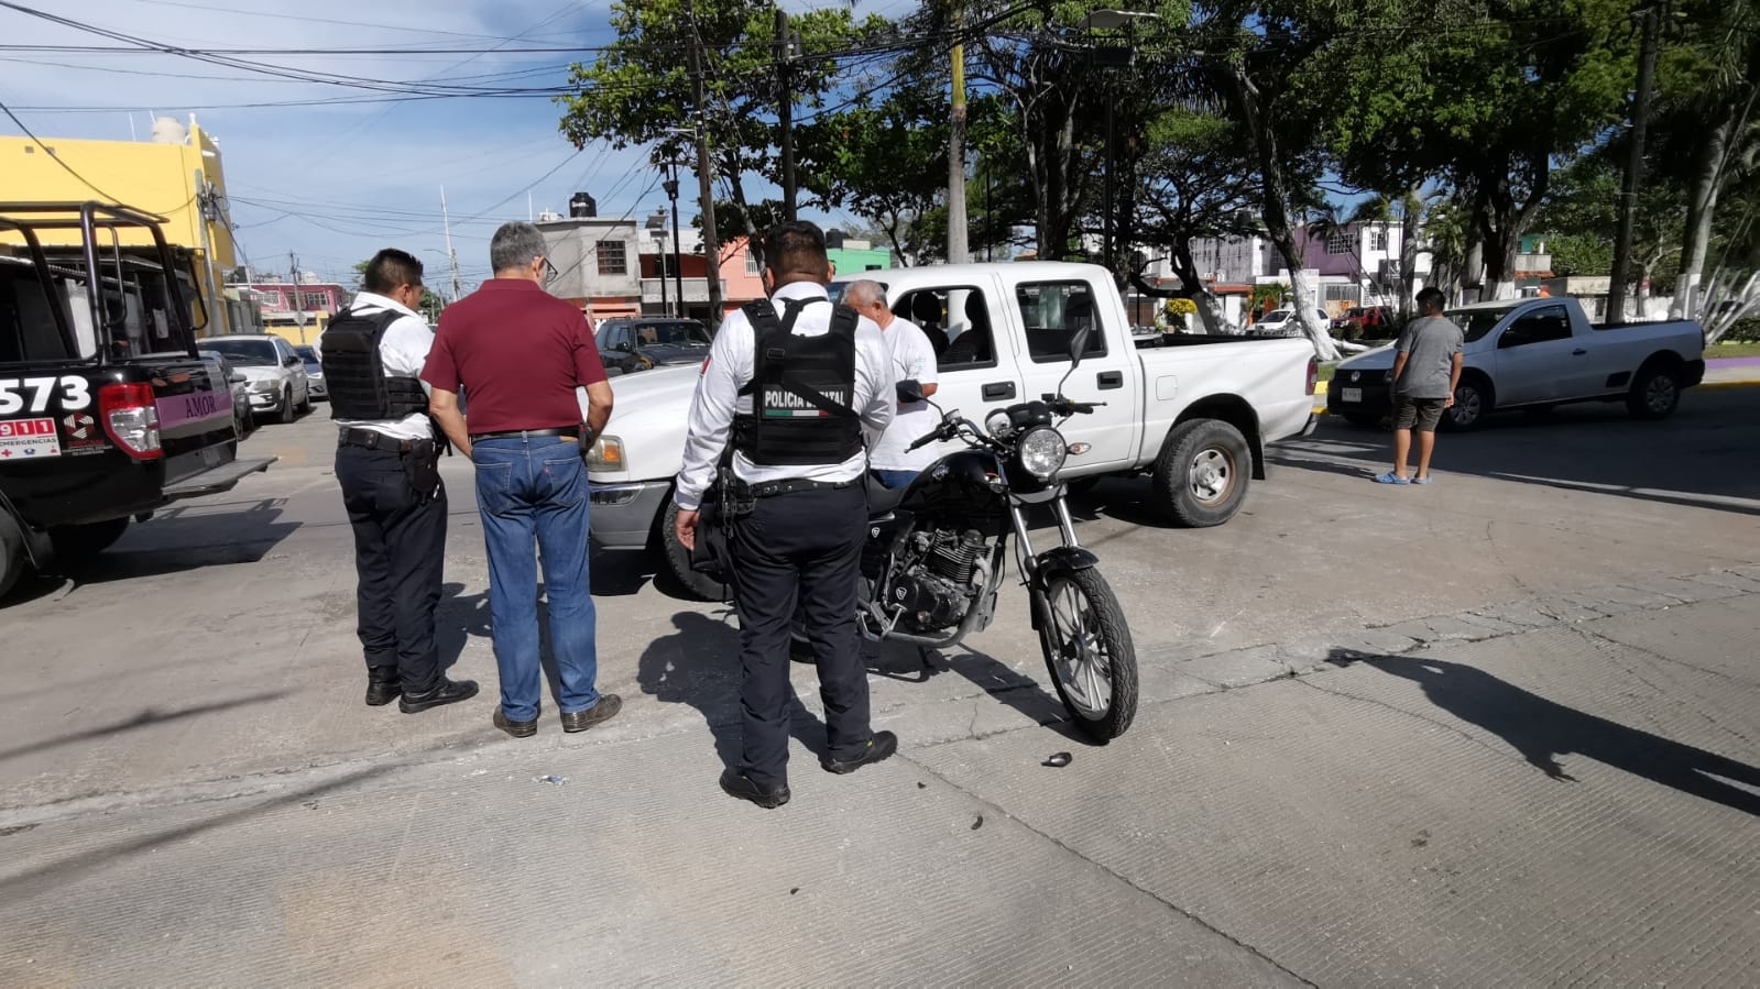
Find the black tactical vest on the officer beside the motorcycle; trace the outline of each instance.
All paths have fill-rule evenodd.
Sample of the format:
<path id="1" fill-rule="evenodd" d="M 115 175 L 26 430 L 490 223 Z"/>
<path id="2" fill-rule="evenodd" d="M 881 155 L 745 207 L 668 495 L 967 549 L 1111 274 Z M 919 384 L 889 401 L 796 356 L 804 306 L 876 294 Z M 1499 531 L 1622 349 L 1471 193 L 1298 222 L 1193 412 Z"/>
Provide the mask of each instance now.
<path id="1" fill-rule="evenodd" d="M 855 322 L 848 306 L 836 306 L 831 329 L 818 336 L 796 336 L 794 320 L 810 304 L 829 299 L 783 299 L 776 319 L 769 299 L 744 306 L 752 320 L 757 354 L 752 382 L 739 394 L 752 396 L 752 414 L 734 419 L 734 449 L 760 465 L 843 463 L 862 451 L 862 428 L 855 415 Z"/>

